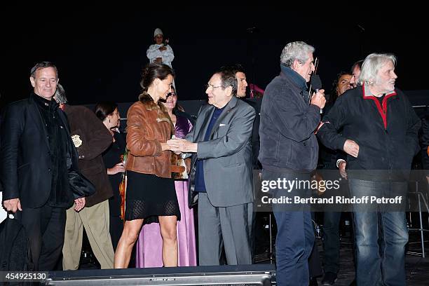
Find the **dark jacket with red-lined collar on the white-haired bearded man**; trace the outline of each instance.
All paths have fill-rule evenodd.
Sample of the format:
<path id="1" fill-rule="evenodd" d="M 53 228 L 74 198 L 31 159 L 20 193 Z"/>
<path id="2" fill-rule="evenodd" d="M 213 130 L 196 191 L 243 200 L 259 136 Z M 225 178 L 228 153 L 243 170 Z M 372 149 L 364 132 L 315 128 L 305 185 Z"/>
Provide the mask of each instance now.
<path id="1" fill-rule="evenodd" d="M 421 121 L 398 89 L 383 104 L 364 86 L 347 90 L 323 121 L 327 123 L 318 130 L 322 144 L 342 150 L 346 139 L 352 139 L 359 145 L 357 158 L 347 157 L 348 170 L 410 170 L 419 150 Z M 343 135 L 337 132 L 341 128 Z"/>

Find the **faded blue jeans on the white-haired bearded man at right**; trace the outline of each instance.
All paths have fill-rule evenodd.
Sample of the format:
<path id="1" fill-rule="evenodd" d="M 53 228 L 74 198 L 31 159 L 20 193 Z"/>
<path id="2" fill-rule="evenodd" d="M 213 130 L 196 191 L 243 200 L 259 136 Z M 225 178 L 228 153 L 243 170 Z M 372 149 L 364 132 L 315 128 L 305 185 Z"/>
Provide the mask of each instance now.
<path id="1" fill-rule="evenodd" d="M 350 179 L 349 184 L 351 195 L 356 197 L 392 197 L 407 191 L 406 182 Z M 388 210 L 381 204 L 372 204 L 370 208 L 353 205 L 357 285 L 405 285 L 405 245 L 408 242 L 405 212 Z"/>

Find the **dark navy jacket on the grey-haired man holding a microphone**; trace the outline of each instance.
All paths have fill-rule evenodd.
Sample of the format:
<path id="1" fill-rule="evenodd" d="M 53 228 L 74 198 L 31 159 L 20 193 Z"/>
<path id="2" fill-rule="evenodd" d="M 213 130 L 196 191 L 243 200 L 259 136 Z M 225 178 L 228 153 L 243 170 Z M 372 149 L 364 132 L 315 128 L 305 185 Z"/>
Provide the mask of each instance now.
<path id="1" fill-rule="evenodd" d="M 262 98 L 259 161 L 266 170 L 311 172 L 318 163 L 320 108 L 304 100 L 305 80 L 288 71 L 268 84 Z"/>

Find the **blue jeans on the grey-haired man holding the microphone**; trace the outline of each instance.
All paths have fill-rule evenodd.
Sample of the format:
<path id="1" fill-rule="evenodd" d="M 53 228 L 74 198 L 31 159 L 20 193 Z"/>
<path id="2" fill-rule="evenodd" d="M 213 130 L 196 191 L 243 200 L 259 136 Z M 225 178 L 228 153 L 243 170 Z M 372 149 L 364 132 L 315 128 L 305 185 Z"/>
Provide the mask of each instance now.
<path id="1" fill-rule="evenodd" d="M 278 178 L 290 180 L 309 180 L 310 175 L 299 173 L 278 173 L 263 170 L 262 179 L 275 181 Z M 307 196 L 308 190 L 274 191 L 273 197 L 280 196 Z M 314 245 L 313 223 L 308 205 L 287 207 L 273 205 L 275 222 L 277 224 L 277 237 L 275 238 L 276 282 L 278 286 L 308 286 L 308 257 Z"/>

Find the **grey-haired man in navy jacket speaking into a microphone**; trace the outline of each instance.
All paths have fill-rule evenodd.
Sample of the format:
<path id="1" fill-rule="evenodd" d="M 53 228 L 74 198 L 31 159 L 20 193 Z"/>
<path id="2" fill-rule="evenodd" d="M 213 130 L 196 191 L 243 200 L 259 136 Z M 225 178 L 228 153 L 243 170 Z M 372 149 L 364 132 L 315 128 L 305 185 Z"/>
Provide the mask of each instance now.
<path id="1" fill-rule="evenodd" d="M 315 67 L 314 48 L 297 41 L 288 43 L 280 56 L 280 75 L 266 87 L 261 105 L 259 136 L 262 179 L 267 182 L 310 181 L 318 162 L 315 130 L 320 109 L 325 107 L 325 90 L 311 100 L 307 83 Z M 271 184 L 270 184 L 271 186 Z M 307 196 L 302 189 L 272 190 L 274 198 Z M 277 222 L 275 259 L 277 284 L 308 285 L 308 257 L 314 245 L 313 224 L 308 206 L 273 204 Z"/>

